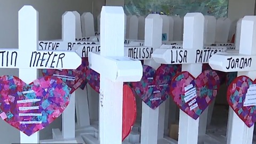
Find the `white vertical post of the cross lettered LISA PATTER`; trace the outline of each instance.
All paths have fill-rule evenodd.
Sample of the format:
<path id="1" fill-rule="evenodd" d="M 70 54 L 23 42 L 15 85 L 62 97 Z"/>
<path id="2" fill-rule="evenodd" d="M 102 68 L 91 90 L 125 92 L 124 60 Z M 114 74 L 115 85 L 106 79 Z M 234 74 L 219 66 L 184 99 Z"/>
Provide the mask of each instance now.
<path id="1" fill-rule="evenodd" d="M 202 13 L 187 13 L 184 17 L 183 47 L 198 49 L 204 44 L 204 15 Z M 197 77 L 202 73 L 202 63 L 183 64 L 182 71 L 189 71 Z M 178 143 L 197 143 L 199 119 L 193 119 L 180 110 Z M 184 139 L 186 138 L 186 139 Z M 188 139 L 189 138 L 189 139 Z"/>

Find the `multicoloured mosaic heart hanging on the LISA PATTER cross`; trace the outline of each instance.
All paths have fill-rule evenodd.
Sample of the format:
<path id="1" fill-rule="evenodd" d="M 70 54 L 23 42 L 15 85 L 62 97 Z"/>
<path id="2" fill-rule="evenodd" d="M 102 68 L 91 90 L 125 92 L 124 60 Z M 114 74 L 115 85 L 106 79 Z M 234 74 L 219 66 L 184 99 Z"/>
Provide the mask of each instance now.
<path id="1" fill-rule="evenodd" d="M 171 83 L 171 96 L 178 107 L 197 119 L 216 97 L 220 78 L 213 70 L 203 71 L 196 79 L 188 72 L 175 75 Z"/>

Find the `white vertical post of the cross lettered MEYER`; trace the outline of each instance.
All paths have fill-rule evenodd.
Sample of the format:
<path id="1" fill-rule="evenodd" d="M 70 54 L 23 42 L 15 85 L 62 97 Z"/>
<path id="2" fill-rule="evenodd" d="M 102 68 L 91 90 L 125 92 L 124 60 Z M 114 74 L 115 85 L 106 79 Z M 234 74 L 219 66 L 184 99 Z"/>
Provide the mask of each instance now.
<path id="1" fill-rule="evenodd" d="M 37 51 L 38 45 L 38 12 L 29 5 L 19 11 L 19 51 Z M 25 55 L 23 55 L 25 56 Z M 19 78 L 25 83 L 33 82 L 38 76 L 38 70 L 19 68 Z M 20 143 L 39 143 L 39 132 L 30 137 L 20 132 Z"/>

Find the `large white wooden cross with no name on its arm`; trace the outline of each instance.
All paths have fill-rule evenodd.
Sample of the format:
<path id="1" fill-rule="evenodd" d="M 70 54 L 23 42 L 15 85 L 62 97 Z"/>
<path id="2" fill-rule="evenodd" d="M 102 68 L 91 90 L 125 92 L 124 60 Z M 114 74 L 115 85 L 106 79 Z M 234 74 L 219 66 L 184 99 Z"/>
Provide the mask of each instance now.
<path id="1" fill-rule="evenodd" d="M 140 61 L 124 57 L 123 7 L 103 6 L 100 18 L 101 51 L 89 53 L 90 67 L 100 74 L 100 143 L 122 143 L 123 82 L 138 82 Z"/>

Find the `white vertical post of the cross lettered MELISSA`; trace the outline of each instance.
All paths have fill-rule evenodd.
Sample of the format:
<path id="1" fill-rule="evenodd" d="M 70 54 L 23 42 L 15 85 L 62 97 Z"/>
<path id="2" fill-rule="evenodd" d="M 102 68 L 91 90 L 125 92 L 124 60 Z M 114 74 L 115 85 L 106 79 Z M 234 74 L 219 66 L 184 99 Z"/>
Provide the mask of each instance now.
<path id="1" fill-rule="evenodd" d="M 162 45 L 162 26 L 163 19 L 159 14 L 149 14 L 145 19 L 145 45 L 157 49 Z M 144 60 L 144 65 L 148 65 L 154 69 L 161 66 L 154 60 Z M 163 102 L 156 109 L 151 109 L 145 102 L 142 101 L 142 117 L 141 117 L 141 144 L 156 144 L 158 137 L 158 122 L 160 108 L 164 108 Z M 164 112 L 164 110 L 162 109 Z M 164 117 L 163 117 L 164 118 Z M 162 124 L 160 124 L 162 125 Z M 164 125 L 164 123 L 163 123 Z M 162 135 L 162 134 L 161 134 Z"/>

